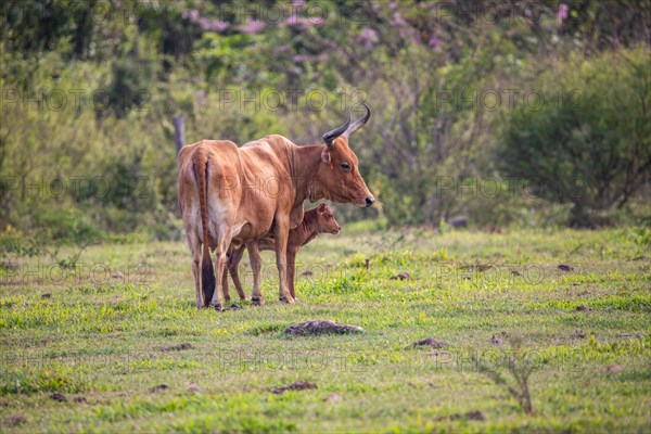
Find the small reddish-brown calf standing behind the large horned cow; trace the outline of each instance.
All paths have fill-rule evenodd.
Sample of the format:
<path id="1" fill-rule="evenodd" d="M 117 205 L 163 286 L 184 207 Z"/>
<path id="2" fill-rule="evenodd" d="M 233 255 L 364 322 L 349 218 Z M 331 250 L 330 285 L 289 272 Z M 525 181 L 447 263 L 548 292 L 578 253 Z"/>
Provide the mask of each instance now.
<path id="1" fill-rule="evenodd" d="M 332 233 L 337 234 L 342 228 L 334 219 L 334 213 L 328 204 L 322 203 L 314 209 L 305 212 L 303 221 L 301 225 L 290 230 L 288 238 L 288 283 L 290 285 L 290 294 L 296 299 L 296 292 L 294 289 L 294 276 L 296 275 L 296 255 L 301 247 L 312 241 L 319 233 Z M 264 238 L 258 241 L 258 247 L 260 251 L 272 251 L 276 246 L 276 240 L 273 237 Z M 242 289 L 240 282 L 240 273 L 238 267 L 242 260 L 244 254 L 244 246 L 232 250 L 230 252 L 227 263 L 228 273 L 231 275 L 238 295 L 240 299 L 246 299 L 246 294 Z M 224 273 L 224 298 L 228 302 L 230 294 L 228 292 L 228 273 Z"/>

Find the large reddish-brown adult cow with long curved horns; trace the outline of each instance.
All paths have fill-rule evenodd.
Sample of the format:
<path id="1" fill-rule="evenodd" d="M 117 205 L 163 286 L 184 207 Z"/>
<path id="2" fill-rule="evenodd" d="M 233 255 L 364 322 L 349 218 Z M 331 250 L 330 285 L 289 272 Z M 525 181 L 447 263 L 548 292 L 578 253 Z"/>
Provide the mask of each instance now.
<path id="1" fill-rule="evenodd" d="M 238 148 L 228 140 L 202 140 L 179 151 L 179 208 L 192 253 L 196 306 L 222 308 L 227 252 L 250 243 L 254 304 L 261 304 L 257 240 L 272 232 L 280 299 L 288 291 L 286 243 L 290 228 L 303 220 L 303 202 L 328 199 L 370 206 L 374 197 L 357 167 L 348 138 L 363 117 L 323 135 L 326 144 L 298 146 L 282 136 L 267 136 Z M 203 243 L 203 253 L 201 244 Z M 209 248 L 215 248 L 217 276 Z M 201 263 L 201 266 L 200 266 Z M 217 291 L 215 291 L 215 288 Z"/>

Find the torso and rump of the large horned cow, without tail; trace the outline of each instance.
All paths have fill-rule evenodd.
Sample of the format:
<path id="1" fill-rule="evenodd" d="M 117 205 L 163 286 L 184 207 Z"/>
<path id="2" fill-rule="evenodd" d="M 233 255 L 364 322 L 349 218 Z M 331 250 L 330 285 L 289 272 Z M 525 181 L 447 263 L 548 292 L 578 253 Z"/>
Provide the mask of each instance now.
<path id="1" fill-rule="evenodd" d="M 233 225 L 233 243 L 259 239 L 271 230 L 279 209 L 291 208 L 295 192 L 291 180 L 292 146 L 282 136 L 267 136 L 238 148 L 227 140 L 202 140 L 179 152 L 179 205 L 199 207 L 199 189 L 193 155 L 207 154 L 208 214 L 210 234 L 228 218 Z M 181 197 L 183 197 L 181 200 Z M 193 213 L 194 214 L 194 213 Z M 213 237 L 210 237 L 213 238 Z M 213 241 L 210 244 L 213 244 Z"/>

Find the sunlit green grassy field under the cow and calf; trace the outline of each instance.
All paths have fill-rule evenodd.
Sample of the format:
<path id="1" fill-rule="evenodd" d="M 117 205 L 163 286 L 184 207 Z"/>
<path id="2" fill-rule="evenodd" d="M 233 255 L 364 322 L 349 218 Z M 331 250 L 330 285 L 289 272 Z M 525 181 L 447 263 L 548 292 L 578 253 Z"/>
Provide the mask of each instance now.
<path id="1" fill-rule="evenodd" d="M 181 242 L 90 247 L 72 270 L 18 260 L 0 285 L 0 429 L 649 432 L 649 239 L 348 227 L 302 252 L 295 305 L 265 253 L 267 304 L 225 312 L 194 307 Z M 312 319 L 365 332 L 285 335 Z M 409 346 L 424 337 L 449 345 Z M 489 374 L 522 366 L 533 413 Z M 272 393 L 295 381 L 317 388 Z"/>

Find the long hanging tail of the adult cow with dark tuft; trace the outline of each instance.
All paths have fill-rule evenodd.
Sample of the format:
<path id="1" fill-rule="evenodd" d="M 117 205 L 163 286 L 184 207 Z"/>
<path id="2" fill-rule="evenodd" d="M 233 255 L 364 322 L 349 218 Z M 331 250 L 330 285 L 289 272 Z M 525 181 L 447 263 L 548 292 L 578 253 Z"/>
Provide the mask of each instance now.
<path id="1" fill-rule="evenodd" d="M 208 307 L 215 294 L 215 269 L 210 260 L 208 239 L 208 156 L 203 148 L 194 154 L 192 166 L 196 187 L 199 190 L 199 205 L 201 207 L 201 227 L 203 230 L 203 256 L 201 260 L 201 291 L 204 294 L 204 307 Z"/>

